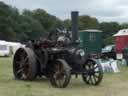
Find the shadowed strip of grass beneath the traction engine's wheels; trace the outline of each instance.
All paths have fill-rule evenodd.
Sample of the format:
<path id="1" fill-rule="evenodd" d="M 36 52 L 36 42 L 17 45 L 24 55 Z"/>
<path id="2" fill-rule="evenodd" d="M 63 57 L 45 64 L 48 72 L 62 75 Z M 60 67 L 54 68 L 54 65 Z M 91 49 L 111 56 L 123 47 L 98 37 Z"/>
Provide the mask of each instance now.
<path id="1" fill-rule="evenodd" d="M 7 82 L 7 81 L 6 81 Z M 33 81 L 26 81 L 26 80 L 16 80 L 16 79 L 11 79 L 11 80 L 8 80 L 8 83 L 9 82 L 13 82 L 13 83 L 19 83 L 19 84 L 24 84 L 26 87 L 30 87 L 31 85 L 32 86 L 35 86 L 35 85 L 37 85 L 37 86 L 39 86 L 39 85 L 42 85 L 42 88 L 43 88 L 43 86 L 45 86 L 46 88 L 53 88 L 53 89 L 59 89 L 59 90 L 62 90 L 62 91 L 64 91 L 64 90 L 74 90 L 74 89 L 85 89 L 85 90 L 87 90 L 87 89 L 95 89 L 95 88 L 102 88 L 103 87 L 103 82 L 101 82 L 101 84 L 100 85 L 98 85 L 98 86 L 92 86 L 92 85 L 88 85 L 88 84 L 86 84 L 84 81 L 82 81 L 82 80 L 80 80 L 79 78 L 77 79 L 75 79 L 75 78 L 72 78 L 71 79 L 71 81 L 69 82 L 69 84 L 68 84 L 68 86 L 66 87 L 66 88 L 55 88 L 55 87 L 53 87 L 51 84 L 50 84 L 50 81 L 48 80 L 48 78 L 46 78 L 46 77 L 43 77 L 43 78 L 37 78 L 37 79 L 35 79 L 35 80 L 33 80 Z"/>

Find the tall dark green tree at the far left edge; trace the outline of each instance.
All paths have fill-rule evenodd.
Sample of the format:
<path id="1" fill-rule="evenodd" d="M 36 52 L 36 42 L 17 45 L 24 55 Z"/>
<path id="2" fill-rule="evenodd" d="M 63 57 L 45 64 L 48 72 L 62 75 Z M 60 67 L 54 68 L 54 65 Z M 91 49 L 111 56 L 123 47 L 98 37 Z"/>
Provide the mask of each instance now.
<path id="1" fill-rule="evenodd" d="M 12 8 L 3 2 L 0 2 L 0 39 L 15 40 L 16 33 L 12 28 L 14 20 L 12 20 Z"/>

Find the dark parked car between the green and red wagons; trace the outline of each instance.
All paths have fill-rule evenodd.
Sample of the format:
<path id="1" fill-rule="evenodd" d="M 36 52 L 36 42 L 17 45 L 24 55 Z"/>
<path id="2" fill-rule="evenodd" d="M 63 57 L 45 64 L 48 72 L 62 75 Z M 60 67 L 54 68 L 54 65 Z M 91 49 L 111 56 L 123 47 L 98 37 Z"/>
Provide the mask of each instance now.
<path id="1" fill-rule="evenodd" d="M 102 49 L 102 57 L 103 58 L 113 58 L 116 59 L 116 50 L 115 45 L 107 45 Z"/>

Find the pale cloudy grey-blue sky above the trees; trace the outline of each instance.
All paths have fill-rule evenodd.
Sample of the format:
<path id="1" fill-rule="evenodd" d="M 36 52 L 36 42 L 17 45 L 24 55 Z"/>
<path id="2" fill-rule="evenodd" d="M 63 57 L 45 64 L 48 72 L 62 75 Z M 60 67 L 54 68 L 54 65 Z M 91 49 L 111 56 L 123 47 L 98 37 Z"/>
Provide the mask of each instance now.
<path id="1" fill-rule="evenodd" d="M 100 22 L 128 22 L 128 0 L 0 0 L 19 10 L 42 8 L 60 19 L 70 18 L 71 11 L 96 17 Z"/>

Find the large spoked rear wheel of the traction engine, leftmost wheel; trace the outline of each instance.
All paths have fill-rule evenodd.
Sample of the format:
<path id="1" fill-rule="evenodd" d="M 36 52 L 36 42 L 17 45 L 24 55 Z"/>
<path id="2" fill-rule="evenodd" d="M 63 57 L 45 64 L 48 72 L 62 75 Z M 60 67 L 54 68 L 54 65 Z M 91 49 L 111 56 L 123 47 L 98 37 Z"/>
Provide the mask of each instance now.
<path id="1" fill-rule="evenodd" d="M 32 49 L 19 48 L 13 59 L 13 73 L 18 80 L 33 80 L 36 77 L 36 59 Z"/>

